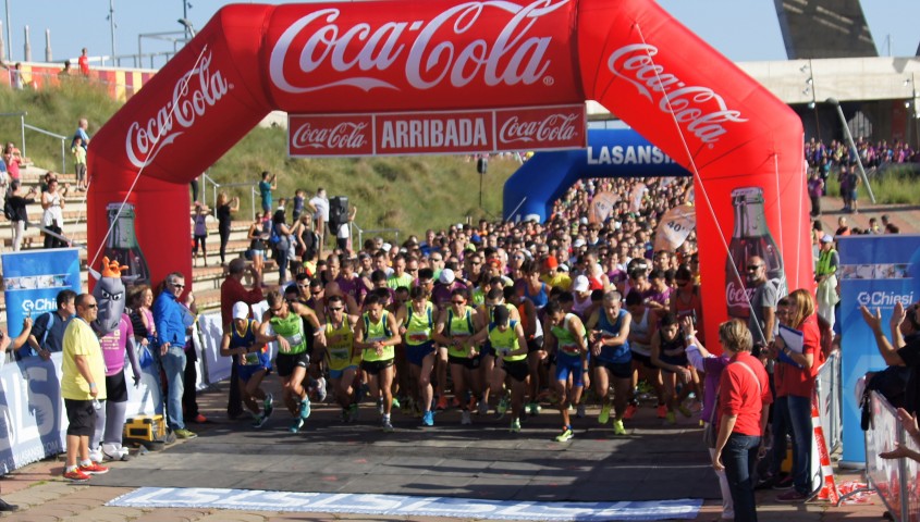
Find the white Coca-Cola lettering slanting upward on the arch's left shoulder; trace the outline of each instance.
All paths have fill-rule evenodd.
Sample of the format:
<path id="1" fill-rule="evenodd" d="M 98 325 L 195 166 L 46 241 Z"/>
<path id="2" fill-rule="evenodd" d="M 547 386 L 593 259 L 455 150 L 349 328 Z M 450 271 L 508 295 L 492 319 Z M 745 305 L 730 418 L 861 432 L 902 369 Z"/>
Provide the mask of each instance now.
<path id="1" fill-rule="evenodd" d="M 172 100 L 161 107 L 156 116 L 145 124 L 134 122 L 127 128 L 125 150 L 134 166 L 140 169 L 152 161 L 165 146 L 182 136 L 181 129 L 191 128 L 195 120 L 205 115 L 230 90 L 221 72 L 211 72 L 212 54 L 204 54 L 197 66 L 176 80 Z"/>

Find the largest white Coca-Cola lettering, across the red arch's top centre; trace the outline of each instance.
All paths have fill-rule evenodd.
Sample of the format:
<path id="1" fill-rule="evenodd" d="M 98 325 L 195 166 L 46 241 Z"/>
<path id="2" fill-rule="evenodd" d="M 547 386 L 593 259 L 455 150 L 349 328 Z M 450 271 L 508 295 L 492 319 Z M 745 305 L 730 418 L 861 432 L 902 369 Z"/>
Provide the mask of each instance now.
<path id="1" fill-rule="evenodd" d="M 538 0 L 529 5 L 498 0 L 466 2 L 431 20 L 388 22 L 378 27 L 366 22 L 339 26 L 335 21 L 341 11 L 321 9 L 296 21 L 281 35 L 271 51 L 269 76 L 279 89 L 293 94 L 344 85 L 365 91 L 373 88 L 398 90 L 380 75 L 407 54 L 405 77 L 417 89 L 437 87 L 445 79 L 454 87 L 463 87 L 479 75 L 490 87 L 531 85 L 541 78 L 551 84 L 552 78 L 543 78 L 543 75 L 550 65 L 544 53 L 552 38 L 528 34 L 540 17 L 566 3 L 568 0 L 556 3 Z M 512 17 L 500 27 L 492 41 L 479 38 L 458 49 L 450 37 L 471 33 L 487 8 L 506 11 Z M 403 35 L 408 33 L 415 33 L 414 40 L 403 42 Z M 296 75 L 289 74 L 284 67 L 292 53 L 298 57 Z M 308 80 L 316 78 L 315 73 L 326 63 L 346 77 L 310 84 Z M 371 74 L 366 74 L 368 72 Z M 295 77 L 298 79 L 293 79 Z"/>

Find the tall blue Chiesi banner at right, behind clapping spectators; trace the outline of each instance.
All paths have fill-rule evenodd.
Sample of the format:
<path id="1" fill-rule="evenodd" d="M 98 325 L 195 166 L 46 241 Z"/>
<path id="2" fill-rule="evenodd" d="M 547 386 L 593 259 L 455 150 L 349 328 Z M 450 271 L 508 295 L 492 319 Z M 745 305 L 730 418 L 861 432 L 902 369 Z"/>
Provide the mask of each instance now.
<path id="1" fill-rule="evenodd" d="M 868 307 L 882 314 L 883 331 L 891 339 L 888 320 L 895 304 L 905 307 L 920 298 L 920 236 L 842 236 L 837 238 L 841 266 L 841 324 L 843 352 L 843 459 L 850 465 L 866 463 L 856 384 L 866 372 L 884 370 L 875 336 L 859 310 Z"/>

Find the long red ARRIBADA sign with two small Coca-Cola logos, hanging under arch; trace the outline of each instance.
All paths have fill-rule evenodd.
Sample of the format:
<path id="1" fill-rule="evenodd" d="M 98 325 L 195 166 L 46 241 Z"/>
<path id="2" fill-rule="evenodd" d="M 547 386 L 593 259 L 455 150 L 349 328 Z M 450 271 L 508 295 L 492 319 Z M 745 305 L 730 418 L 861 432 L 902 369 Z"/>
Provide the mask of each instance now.
<path id="1" fill-rule="evenodd" d="M 456 154 L 581 149 L 585 104 L 384 114 L 292 114 L 287 154 Z"/>

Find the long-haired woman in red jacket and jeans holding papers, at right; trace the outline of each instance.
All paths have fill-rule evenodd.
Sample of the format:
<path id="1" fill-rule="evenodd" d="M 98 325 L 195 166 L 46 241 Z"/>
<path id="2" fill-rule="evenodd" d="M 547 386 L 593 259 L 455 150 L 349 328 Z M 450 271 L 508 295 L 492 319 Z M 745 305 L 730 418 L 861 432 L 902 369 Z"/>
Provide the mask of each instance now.
<path id="1" fill-rule="evenodd" d="M 776 336 L 773 356 L 777 364 L 773 366 L 773 380 L 776 385 L 774 414 L 783 415 L 793 436 L 793 489 L 780 494 L 776 500 L 794 502 L 805 500 L 811 494 L 811 394 L 822 352 L 811 293 L 804 288 L 795 290 L 789 294 L 788 301 L 788 324 L 796 332 L 781 331 Z M 785 433 L 774 435 L 773 451 L 786 455 Z"/>

